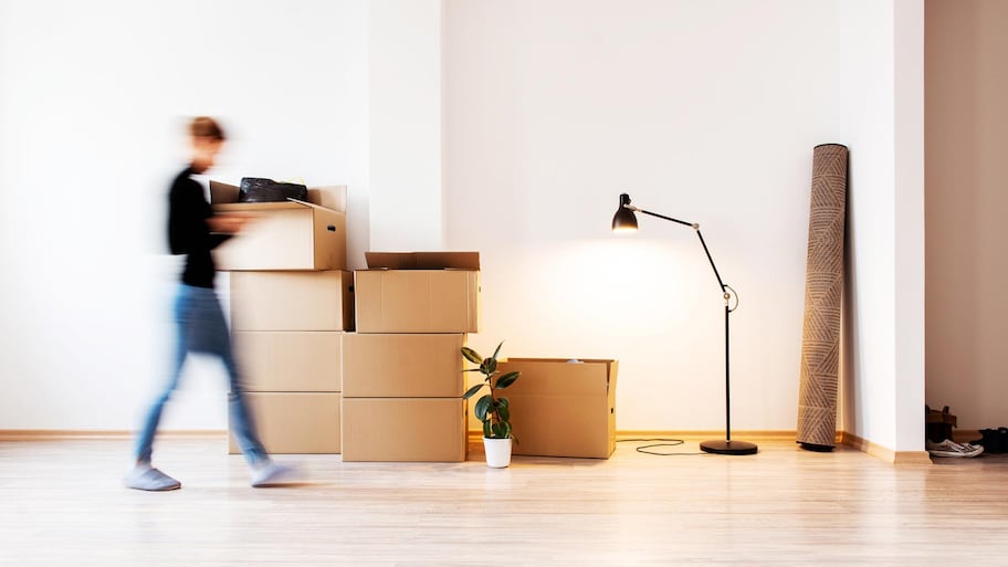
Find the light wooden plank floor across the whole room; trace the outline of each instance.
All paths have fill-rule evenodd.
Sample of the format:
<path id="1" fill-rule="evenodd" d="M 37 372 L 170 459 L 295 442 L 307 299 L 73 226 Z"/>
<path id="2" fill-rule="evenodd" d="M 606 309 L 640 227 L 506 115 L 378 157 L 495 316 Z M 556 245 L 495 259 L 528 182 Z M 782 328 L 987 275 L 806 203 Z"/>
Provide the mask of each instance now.
<path id="1" fill-rule="evenodd" d="M 1008 458 L 515 458 L 491 470 L 307 455 L 251 489 L 223 438 L 159 440 L 182 490 L 120 485 L 129 442 L 0 442 L 0 565 L 1008 565 Z M 695 442 L 679 448 L 695 451 Z"/>

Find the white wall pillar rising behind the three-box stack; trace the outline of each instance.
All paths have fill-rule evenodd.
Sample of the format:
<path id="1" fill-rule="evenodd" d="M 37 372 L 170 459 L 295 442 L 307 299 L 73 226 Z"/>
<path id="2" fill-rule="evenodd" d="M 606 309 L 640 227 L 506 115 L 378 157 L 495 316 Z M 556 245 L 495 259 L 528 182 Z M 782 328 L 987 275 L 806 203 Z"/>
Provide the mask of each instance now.
<path id="1" fill-rule="evenodd" d="M 371 250 L 441 250 L 441 0 L 368 2 Z"/>

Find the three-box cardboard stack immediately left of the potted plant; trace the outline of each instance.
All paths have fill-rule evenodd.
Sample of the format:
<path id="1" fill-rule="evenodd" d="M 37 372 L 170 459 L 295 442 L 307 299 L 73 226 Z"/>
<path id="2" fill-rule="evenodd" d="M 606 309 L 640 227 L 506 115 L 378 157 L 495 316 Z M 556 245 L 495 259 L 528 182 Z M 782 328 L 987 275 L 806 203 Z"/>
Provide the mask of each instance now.
<path id="1" fill-rule="evenodd" d="M 464 461 L 461 349 L 479 330 L 476 252 L 368 253 L 343 336 L 343 460 Z"/>

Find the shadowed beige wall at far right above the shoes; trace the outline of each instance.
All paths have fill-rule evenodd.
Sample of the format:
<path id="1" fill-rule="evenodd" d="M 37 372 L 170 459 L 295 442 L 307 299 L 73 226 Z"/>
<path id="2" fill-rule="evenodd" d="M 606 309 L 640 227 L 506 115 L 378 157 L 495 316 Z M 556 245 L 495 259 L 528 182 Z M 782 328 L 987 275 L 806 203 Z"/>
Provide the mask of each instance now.
<path id="1" fill-rule="evenodd" d="M 1008 2 L 925 4 L 926 386 L 1008 426 Z"/>

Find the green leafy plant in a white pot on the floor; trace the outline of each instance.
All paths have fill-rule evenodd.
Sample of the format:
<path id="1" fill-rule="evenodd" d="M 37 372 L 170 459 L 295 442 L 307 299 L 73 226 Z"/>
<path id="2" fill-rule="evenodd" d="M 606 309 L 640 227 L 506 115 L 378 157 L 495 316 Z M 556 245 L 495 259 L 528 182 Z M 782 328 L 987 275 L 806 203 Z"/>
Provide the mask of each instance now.
<path id="1" fill-rule="evenodd" d="M 511 464 L 511 441 L 514 435 L 511 433 L 511 408 L 507 398 L 496 395 L 497 390 L 507 388 L 522 372 L 507 372 L 504 376 L 497 374 L 497 355 L 501 353 L 501 346 L 490 358 L 483 358 L 479 353 L 469 347 L 462 347 L 462 356 L 479 368 L 470 368 L 466 372 L 480 372 L 483 375 L 483 381 L 470 388 L 463 396 L 463 399 L 470 399 L 476 395 L 483 387 L 490 388 L 490 393 L 484 393 L 476 401 L 474 412 L 476 418 L 483 422 L 483 449 L 486 451 L 486 465 L 495 469 L 503 469 Z M 514 439 L 517 442 L 517 439 Z"/>

